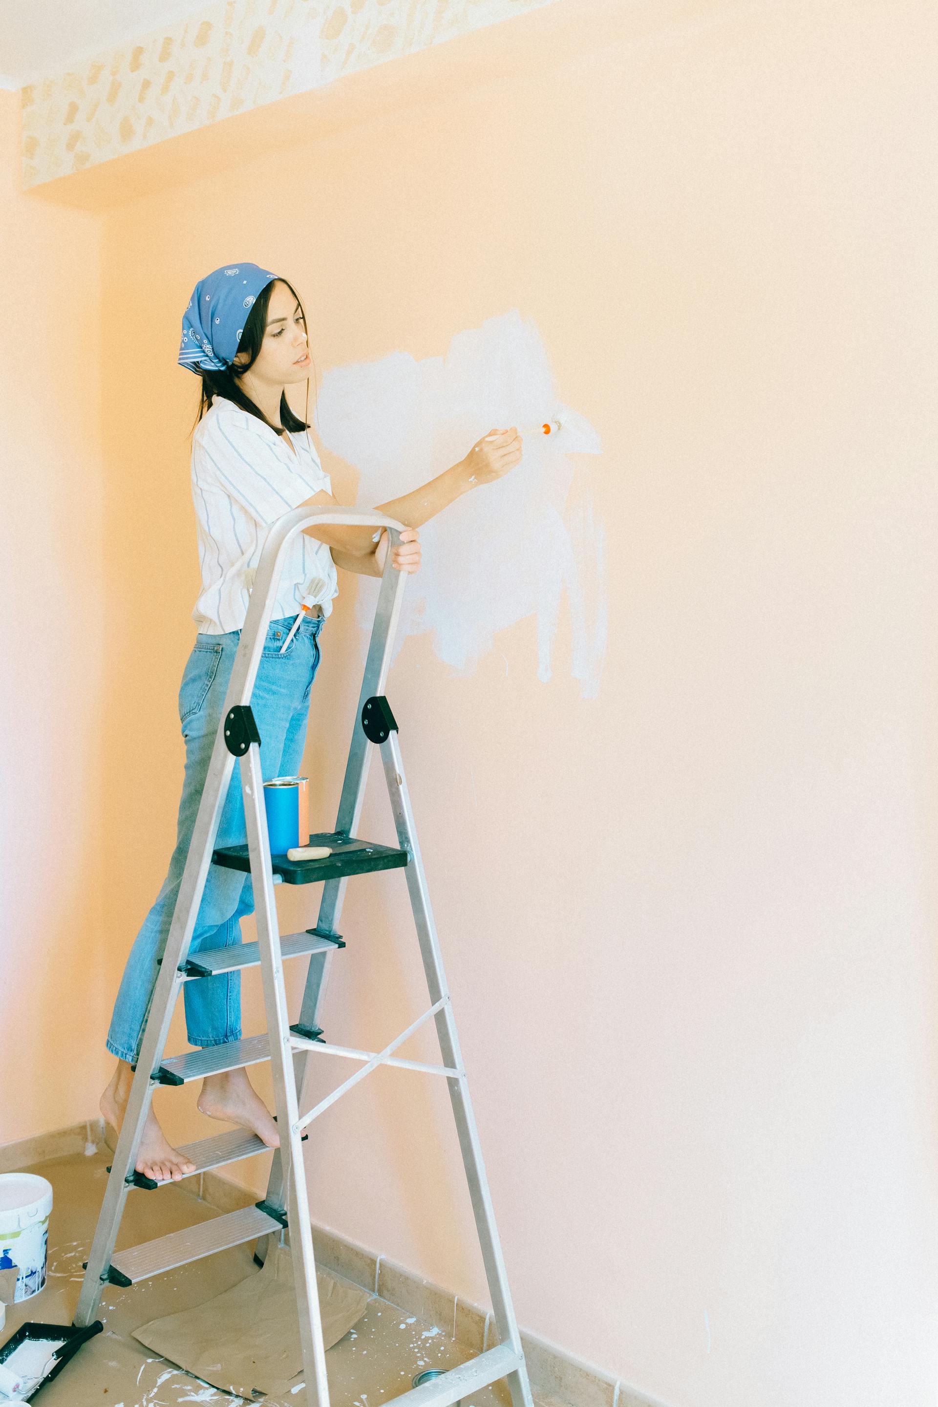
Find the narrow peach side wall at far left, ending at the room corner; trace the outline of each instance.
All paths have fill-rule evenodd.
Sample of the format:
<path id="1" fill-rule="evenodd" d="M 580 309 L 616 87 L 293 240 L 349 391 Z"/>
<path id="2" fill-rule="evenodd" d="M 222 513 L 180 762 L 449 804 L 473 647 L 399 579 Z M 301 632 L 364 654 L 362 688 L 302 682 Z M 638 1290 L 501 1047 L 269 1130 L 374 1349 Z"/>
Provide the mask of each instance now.
<path id="1" fill-rule="evenodd" d="M 101 898 L 100 217 L 17 190 L 0 91 L 0 1142 L 93 1114 Z"/>

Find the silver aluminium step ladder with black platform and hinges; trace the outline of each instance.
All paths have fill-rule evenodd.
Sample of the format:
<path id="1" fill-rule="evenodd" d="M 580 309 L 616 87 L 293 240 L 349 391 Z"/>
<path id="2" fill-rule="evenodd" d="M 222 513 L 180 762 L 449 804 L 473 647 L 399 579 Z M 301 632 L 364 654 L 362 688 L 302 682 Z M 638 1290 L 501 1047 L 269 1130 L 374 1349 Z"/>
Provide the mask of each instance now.
<path id="1" fill-rule="evenodd" d="M 332 833 L 309 837 L 312 846 L 328 846 L 332 854 L 323 860 L 291 862 L 285 855 L 271 857 L 270 854 L 260 772 L 260 737 L 250 711 L 250 696 L 287 547 L 298 532 L 312 523 L 322 526 L 356 525 L 375 530 L 387 528 L 391 542 L 361 681 L 359 718 L 349 750 L 336 829 Z M 75 1324 L 76 1327 L 87 1327 L 96 1321 L 101 1293 L 108 1283 L 135 1285 L 138 1280 L 176 1269 L 200 1256 L 212 1255 L 217 1251 L 253 1240 L 259 1242 L 256 1259 L 263 1263 L 266 1248 L 270 1244 L 269 1237 L 283 1238 L 284 1230 L 288 1228 L 287 1237 L 294 1256 L 307 1399 L 309 1407 L 329 1407 L 302 1142 L 308 1137 L 305 1130 L 314 1119 L 325 1113 L 378 1065 L 392 1065 L 406 1071 L 443 1076 L 447 1082 L 498 1328 L 498 1346 L 442 1373 L 432 1382 L 401 1393 L 392 1400 L 406 1403 L 406 1407 L 446 1407 L 475 1389 L 506 1379 L 512 1407 L 532 1407 L 527 1369 L 495 1227 L 456 1020 L 443 972 L 443 958 L 413 825 L 397 723 L 384 696 L 406 584 L 406 575 L 394 570 L 390 550 L 399 542 L 401 530 L 401 523 L 377 512 L 295 508 L 278 519 L 267 535 L 225 696 L 222 719 L 218 725 L 172 926 L 160 960 L 159 976 L 148 1010 L 131 1095 L 82 1283 Z M 378 747 L 384 764 L 384 777 L 398 834 L 397 848 L 356 837 L 373 746 Z M 215 850 L 218 822 L 236 758 L 240 760 L 248 844 Z M 214 951 L 197 951 L 190 958 L 188 947 L 210 864 L 226 865 L 250 874 L 257 941 L 233 944 Z M 338 923 L 346 884 L 353 875 L 397 868 L 404 870 L 408 884 L 430 1006 L 381 1051 L 332 1045 L 322 1038 L 319 1012 L 329 965 L 336 951 L 345 947 L 338 933 Z M 291 933 L 281 937 L 274 903 L 274 885 L 277 884 L 323 885 L 315 927 L 305 933 Z M 293 1026 L 287 1014 L 283 978 L 285 958 L 308 960 L 300 1020 Z M 170 1020 L 183 983 L 249 967 L 260 967 L 262 971 L 267 1017 L 266 1034 L 249 1036 L 226 1045 L 205 1047 L 166 1058 L 163 1052 Z M 398 1047 L 430 1019 L 436 1026 L 442 1064 L 430 1065 L 397 1057 L 394 1052 Z M 316 1054 L 325 1052 L 346 1057 L 360 1068 L 330 1095 L 319 1100 L 314 1109 L 301 1113 L 300 1099 L 307 1062 Z M 114 1244 L 129 1190 L 132 1188 L 152 1190 L 159 1186 L 134 1168 L 155 1086 L 183 1085 L 190 1079 L 201 1079 L 204 1075 L 238 1069 L 262 1061 L 269 1061 L 271 1067 L 280 1128 L 280 1148 L 274 1151 L 263 1202 L 159 1237 L 143 1245 L 115 1252 Z M 256 1134 L 236 1128 L 188 1144 L 181 1151 L 195 1164 L 195 1171 L 190 1173 L 190 1176 L 195 1176 L 195 1173 L 210 1168 L 219 1168 L 226 1162 L 267 1150 Z"/>

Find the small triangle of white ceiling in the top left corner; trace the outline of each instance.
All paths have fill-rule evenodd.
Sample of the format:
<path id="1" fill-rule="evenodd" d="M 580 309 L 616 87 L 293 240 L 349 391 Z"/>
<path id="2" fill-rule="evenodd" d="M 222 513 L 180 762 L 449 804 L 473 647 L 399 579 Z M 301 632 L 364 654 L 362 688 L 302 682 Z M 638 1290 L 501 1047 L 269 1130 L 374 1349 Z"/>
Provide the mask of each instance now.
<path id="1" fill-rule="evenodd" d="M 197 10 L 205 0 L 1 0 L 0 87 L 62 73 Z"/>

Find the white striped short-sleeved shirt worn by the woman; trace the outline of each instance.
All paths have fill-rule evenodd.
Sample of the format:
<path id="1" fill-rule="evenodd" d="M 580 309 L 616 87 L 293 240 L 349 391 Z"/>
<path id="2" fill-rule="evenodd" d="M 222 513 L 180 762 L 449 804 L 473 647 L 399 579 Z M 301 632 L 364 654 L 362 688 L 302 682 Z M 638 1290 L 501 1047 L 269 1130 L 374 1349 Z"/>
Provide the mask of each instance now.
<path id="1" fill-rule="evenodd" d="M 193 619 L 203 635 L 240 630 L 267 529 L 319 490 L 329 476 L 305 431 L 283 438 L 249 411 L 217 395 L 193 432 L 193 502 L 203 590 Z M 301 605 L 332 611 L 336 568 L 325 543 L 297 533 L 280 578 L 271 619 Z"/>

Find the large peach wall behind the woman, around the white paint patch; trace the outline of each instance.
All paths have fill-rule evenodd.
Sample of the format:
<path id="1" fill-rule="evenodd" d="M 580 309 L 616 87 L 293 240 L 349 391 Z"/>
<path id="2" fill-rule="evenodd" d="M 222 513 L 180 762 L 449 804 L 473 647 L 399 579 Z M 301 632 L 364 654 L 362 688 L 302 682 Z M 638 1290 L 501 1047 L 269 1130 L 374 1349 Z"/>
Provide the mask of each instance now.
<path id="1" fill-rule="evenodd" d="M 561 3 L 408 59 L 384 111 L 359 75 L 342 124 L 321 94 L 240 166 L 253 114 L 224 170 L 166 144 L 104 214 L 105 854 L 139 841 L 111 992 L 179 796 L 195 279 L 294 277 L 321 371 L 519 308 L 602 435 L 599 696 L 568 622 L 547 685 L 522 622 L 470 678 L 409 639 L 388 692 L 519 1318 L 675 1407 L 934 1401 L 934 38 L 897 0 Z M 353 595 L 314 692 L 323 825 Z M 420 1009 L 404 919 L 394 877 L 352 886 L 332 1037 Z M 314 1216 L 482 1299 L 415 1081 L 322 1120 Z M 190 1092 L 160 1110 L 195 1133 Z"/>

